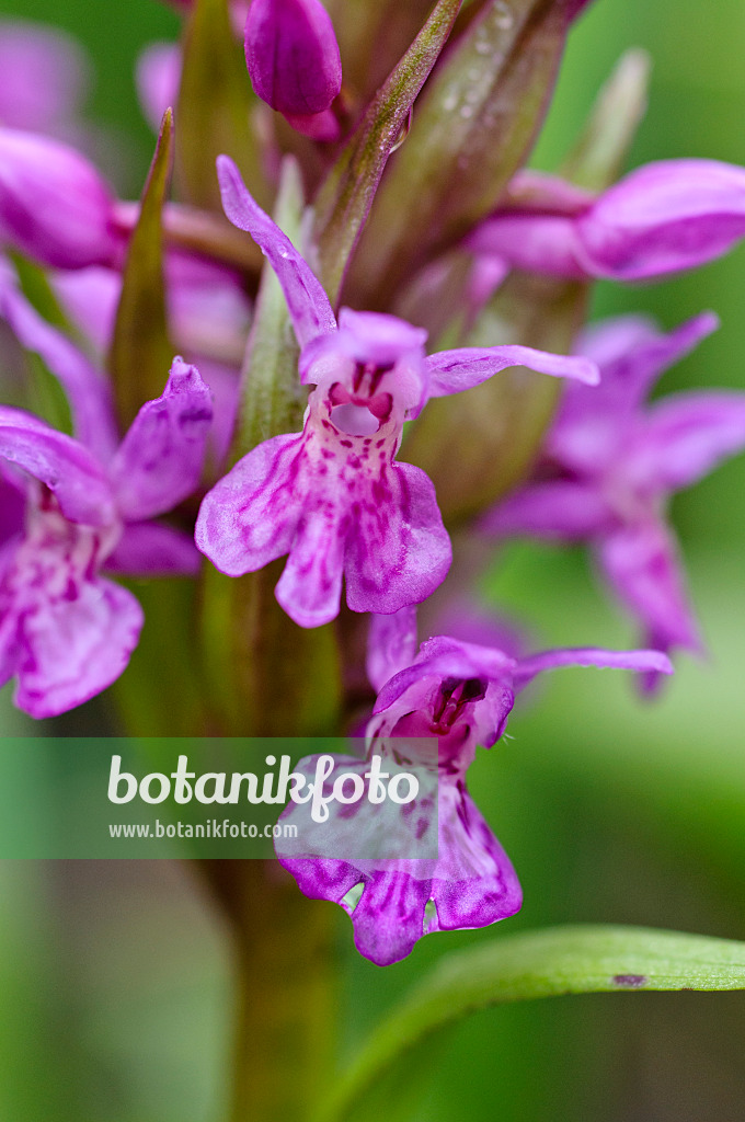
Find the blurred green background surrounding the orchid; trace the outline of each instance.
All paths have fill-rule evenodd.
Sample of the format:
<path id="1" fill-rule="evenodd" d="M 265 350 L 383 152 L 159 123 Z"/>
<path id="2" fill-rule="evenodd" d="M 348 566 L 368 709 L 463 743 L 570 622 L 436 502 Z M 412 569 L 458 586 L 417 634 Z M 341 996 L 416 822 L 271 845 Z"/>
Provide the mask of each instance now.
<path id="1" fill-rule="evenodd" d="M 89 118 L 123 193 L 153 138 L 132 84 L 138 49 L 177 33 L 157 0 L 2 0 L 54 22 L 93 59 Z M 619 54 L 654 61 L 633 163 L 745 164 L 742 0 L 597 0 L 577 26 L 536 163 L 550 168 Z M 645 288 L 600 285 L 595 313 L 644 310 L 672 327 L 703 307 L 720 332 L 664 390 L 745 381 L 745 248 Z M 504 930 L 641 923 L 745 939 L 745 458 L 675 500 L 710 657 L 680 660 L 655 703 L 624 675 L 562 671 L 525 697 L 509 736 L 481 752 L 471 790 L 525 890 Z M 633 643 L 579 553 L 512 548 L 487 582 L 542 643 Z M 0 697 L 6 733 L 24 730 Z M 0 867 L 0 1115 L 13 1122 L 218 1122 L 231 1009 L 226 932 L 175 864 Z M 331 907 L 331 905 L 329 905 Z M 431 936 L 380 971 L 356 957 L 339 913 L 342 1051 L 442 954 L 500 929 Z M 416 1122 L 745 1116 L 745 995 L 567 997 L 480 1013 L 415 1057 Z M 419 1063 L 421 1060 L 421 1063 Z M 429 1060 L 429 1063 L 427 1063 Z M 388 1113 L 398 1089 L 392 1084 Z"/>

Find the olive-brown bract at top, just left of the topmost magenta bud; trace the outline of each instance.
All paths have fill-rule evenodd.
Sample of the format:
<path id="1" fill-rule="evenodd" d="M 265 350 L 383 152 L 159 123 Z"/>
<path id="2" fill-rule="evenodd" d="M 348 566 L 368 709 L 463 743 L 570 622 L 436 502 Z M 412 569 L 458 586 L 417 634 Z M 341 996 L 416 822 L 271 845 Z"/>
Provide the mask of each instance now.
<path id="1" fill-rule="evenodd" d="M 269 205 L 251 128 L 254 104 L 228 0 L 194 0 L 184 36 L 176 138 L 176 177 L 186 202 L 222 212 L 214 162 L 224 153 L 238 164 L 257 202 Z"/>

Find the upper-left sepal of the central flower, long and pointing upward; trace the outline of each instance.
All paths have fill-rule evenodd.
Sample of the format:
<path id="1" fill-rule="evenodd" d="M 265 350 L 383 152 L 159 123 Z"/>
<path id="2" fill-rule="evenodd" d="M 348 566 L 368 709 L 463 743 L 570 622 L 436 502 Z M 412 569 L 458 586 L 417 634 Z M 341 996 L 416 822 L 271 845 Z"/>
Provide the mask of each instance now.
<path id="1" fill-rule="evenodd" d="M 289 238 L 254 202 L 228 156 L 218 156 L 218 178 L 226 214 L 239 230 L 250 233 L 277 274 L 301 347 L 335 331 L 337 321 L 321 282 Z"/>

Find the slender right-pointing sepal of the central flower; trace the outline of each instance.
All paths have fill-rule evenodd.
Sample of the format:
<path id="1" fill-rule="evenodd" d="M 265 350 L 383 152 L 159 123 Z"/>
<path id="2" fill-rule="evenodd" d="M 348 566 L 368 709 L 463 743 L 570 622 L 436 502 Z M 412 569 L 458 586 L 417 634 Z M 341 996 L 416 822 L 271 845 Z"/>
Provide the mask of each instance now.
<path id="1" fill-rule="evenodd" d="M 554 378 L 574 378 L 589 386 L 596 386 L 600 380 L 598 368 L 590 359 L 551 355 L 532 347 L 461 347 L 430 356 L 426 366 L 430 373 L 430 397 L 459 394 L 471 386 L 480 386 L 508 366 L 526 366 L 540 374 L 549 374 Z"/>

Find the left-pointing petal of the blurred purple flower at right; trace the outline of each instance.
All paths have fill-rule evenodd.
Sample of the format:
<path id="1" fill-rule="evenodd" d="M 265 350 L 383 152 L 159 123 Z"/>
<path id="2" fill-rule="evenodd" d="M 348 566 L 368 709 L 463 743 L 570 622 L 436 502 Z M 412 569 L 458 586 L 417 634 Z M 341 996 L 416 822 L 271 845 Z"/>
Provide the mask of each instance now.
<path id="1" fill-rule="evenodd" d="M 582 541 L 610 530 L 615 521 L 597 485 L 558 479 L 531 484 L 507 496 L 479 525 L 493 534 Z"/>

